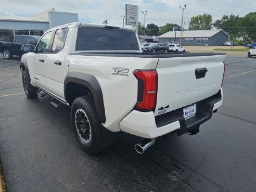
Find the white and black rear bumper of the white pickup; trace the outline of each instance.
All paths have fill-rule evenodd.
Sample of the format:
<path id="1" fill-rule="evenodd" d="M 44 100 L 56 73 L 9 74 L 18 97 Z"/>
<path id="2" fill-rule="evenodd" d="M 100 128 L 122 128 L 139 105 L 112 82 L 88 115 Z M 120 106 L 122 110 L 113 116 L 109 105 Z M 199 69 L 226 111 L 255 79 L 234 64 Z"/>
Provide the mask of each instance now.
<path id="1" fill-rule="evenodd" d="M 185 121 L 183 108 L 155 117 L 153 112 L 131 111 L 120 123 L 120 129 L 126 133 L 144 138 L 156 138 L 170 132 L 180 136 L 199 127 L 212 117 L 212 111 L 223 103 L 223 91 L 197 102 L 197 114 Z M 184 106 L 186 107 L 186 106 Z"/>

